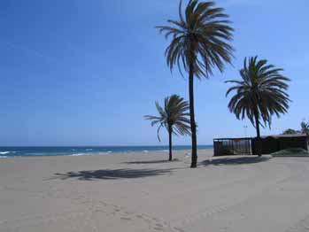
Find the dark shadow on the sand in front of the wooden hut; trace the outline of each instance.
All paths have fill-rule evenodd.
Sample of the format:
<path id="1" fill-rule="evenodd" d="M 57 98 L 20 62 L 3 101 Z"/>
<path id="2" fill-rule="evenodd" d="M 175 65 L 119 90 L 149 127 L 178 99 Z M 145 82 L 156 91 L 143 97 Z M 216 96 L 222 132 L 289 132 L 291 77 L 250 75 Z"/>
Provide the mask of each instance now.
<path id="1" fill-rule="evenodd" d="M 219 159 L 212 159 L 212 160 L 205 160 L 201 162 L 202 165 L 205 166 L 223 166 L 223 165 L 249 165 L 249 164 L 256 164 L 260 162 L 265 162 L 271 159 L 267 156 L 262 157 L 228 157 L 228 158 L 219 158 Z"/>

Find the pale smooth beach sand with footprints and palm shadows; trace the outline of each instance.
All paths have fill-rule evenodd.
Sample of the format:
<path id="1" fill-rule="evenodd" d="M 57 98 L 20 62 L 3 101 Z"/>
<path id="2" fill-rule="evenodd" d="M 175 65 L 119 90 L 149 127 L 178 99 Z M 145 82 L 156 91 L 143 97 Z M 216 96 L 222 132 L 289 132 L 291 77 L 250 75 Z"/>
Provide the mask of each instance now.
<path id="1" fill-rule="evenodd" d="M 309 159 L 185 153 L 0 159 L 0 231 L 309 231 Z"/>

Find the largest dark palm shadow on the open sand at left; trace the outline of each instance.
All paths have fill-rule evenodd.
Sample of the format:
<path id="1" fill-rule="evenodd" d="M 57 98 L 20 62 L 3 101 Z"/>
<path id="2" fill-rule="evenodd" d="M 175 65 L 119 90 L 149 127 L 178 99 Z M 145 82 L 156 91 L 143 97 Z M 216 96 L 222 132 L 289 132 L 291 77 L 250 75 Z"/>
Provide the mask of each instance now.
<path id="1" fill-rule="evenodd" d="M 51 179 L 67 180 L 76 178 L 80 181 L 133 179 L 153 175 L 171 174 L 173 169 L 102 169 L 55 174 Z"/>

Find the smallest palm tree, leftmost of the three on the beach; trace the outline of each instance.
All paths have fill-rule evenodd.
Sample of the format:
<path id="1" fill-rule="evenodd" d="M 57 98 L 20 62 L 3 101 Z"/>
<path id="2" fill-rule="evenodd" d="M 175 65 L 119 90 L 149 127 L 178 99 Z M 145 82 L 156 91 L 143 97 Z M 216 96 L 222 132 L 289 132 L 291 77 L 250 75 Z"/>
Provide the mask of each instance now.
<path id="1" fill-rule="evenodd" d="M 190 135 L 189 127 L 189 104 L 178 95 L 166 97 L 164 108 L 156 102 L 159 116 L 144 116 L 146 120 L 151 120 L 151 126 L 158 124 L 158 141 L 160 141 L 159 130 L 166 128 L 169 144 L 169 161 L 172 157 L 172 135 Z"/>

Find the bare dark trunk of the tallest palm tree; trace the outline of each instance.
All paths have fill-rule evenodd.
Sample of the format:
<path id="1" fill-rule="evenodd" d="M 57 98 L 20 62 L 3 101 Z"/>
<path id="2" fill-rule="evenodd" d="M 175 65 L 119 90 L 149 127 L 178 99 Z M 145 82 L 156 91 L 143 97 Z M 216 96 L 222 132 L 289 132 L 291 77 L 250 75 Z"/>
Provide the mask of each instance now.
<path id="1" fill-rule="evenodd" d="M 193 65 L 189 66 L 189 116 L 191 126 L 191 138 L 192 138 L 192 157 L 191 167 L 197 167 L 197 126 L 194 115 L 194 92 L 193 92 Z"/>

